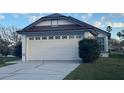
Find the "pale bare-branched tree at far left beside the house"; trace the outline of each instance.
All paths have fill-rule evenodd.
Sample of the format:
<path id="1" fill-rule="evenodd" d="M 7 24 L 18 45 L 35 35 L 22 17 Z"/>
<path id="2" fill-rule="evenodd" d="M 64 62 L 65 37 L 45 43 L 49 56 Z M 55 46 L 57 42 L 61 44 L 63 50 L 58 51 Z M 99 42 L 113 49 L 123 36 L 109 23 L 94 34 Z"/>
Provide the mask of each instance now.
<path id="1" fill-rule="evenodd" d="M 0 26 L 0 36 L 4 41 L 4 48 L 1 53 L 3 55 L 8 55 L 8 53 L 12 54 L 14 52 L 15 46 L 21 42 L 21 37 L 16 33 L 19 30 L 17 27 L 2 27 Z M 9 52 L 8 52 L 9 51 Z"/>

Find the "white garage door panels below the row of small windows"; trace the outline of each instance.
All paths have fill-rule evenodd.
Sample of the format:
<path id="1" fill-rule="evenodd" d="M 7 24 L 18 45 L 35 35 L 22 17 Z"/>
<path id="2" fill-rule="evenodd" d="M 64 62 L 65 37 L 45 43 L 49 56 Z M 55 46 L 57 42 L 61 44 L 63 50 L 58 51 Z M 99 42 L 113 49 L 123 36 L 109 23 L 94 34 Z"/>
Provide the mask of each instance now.
<path id="1" fill-rule="evenodd" d="M 27 60 L 80 60 L 78 40 L 28 40 Z"/>

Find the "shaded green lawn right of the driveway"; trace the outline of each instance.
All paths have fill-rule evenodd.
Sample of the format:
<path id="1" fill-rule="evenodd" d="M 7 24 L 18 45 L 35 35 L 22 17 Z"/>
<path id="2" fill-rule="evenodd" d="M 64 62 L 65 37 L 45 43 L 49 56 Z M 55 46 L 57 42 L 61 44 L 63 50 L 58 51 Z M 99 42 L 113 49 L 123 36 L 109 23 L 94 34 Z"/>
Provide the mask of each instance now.
<path id="1" fill-rule="evenodd" d="M 95 63 L 82 63 L 65 80 L 124 80 L 124 56 L 112 54 Z"/>

